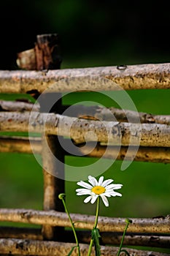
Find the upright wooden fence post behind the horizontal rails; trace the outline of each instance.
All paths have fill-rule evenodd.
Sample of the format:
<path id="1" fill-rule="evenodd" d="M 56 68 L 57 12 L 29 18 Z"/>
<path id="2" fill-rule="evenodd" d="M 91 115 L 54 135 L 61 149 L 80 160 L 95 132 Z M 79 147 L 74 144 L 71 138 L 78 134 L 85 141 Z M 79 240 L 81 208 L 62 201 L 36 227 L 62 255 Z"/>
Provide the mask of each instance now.
<path id="1" fill-rule="evenodd" d="M 42 34 L 37 36 L 35 45 L 36 69 L 59 69 L 61 56 L 58 45 L 58 34 Z M 58 99 L 58 102 L 55 100 Z M 55 102 L 50 112 L 60 113 L 61 94 L 46 93 L 39 99 L 40 112 L 49 112 L 49 104 Z M 46 143 L 45 143 L 46 140 Z M 47 146 L 48 144 L 48 146 Z M 64 192 L 64 167 L 60 162 L 53 161 L 52 154 L 64 162 L 64 153 L 58 141 L 58 136 L 42 136 L 42 165 L 44 176 L 44 210 L 63 211 L 58 195 Z M 55 173 L 55 176 L 53 174 Z M 58 178 L 60 177 L 60 178 Z M 62 177 L 62 179 L 61 179 Z M 63 227 L 51 227 L 43 225 L 42 235 L 45 240 L 59 240 Z"/>

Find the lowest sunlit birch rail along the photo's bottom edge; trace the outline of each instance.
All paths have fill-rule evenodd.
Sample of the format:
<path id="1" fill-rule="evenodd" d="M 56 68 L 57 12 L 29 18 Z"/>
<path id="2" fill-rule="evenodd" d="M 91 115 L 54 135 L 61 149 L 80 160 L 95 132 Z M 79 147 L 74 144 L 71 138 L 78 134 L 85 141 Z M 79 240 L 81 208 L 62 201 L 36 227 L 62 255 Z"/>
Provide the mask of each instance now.
<path id="1" fill-rule="evenodd" d="M 75 244 L 71 243 L 62 243 L 62 242 L 54 242 L 54 241 L 34 241 L 34 240 L 24 240 L 24 239 L 0 239 L 0 252 L 4 254 L 21 254 L 21 255 L 68 255 L 72 247 Z M 80 244 L 80 252 L 82 256 L 88 255 L 88 247 L 87 244 Z M 148 252 L 137 249 L 126 249 L 130 255 L 133 256 L 169 256 L 166 253 L 162 252 Z M 116 255 L 118 251 L 118 247 L 111 246 L 101 246 L 101 256 L 104 255 Z M 94 249 L 92 249 L 92 255 L 94 255 Z M 122 256 L 122 254 L 120 254 Z M 72 252 L 72 256 L 77 256 L 77 249 L 74 248 Z"/>

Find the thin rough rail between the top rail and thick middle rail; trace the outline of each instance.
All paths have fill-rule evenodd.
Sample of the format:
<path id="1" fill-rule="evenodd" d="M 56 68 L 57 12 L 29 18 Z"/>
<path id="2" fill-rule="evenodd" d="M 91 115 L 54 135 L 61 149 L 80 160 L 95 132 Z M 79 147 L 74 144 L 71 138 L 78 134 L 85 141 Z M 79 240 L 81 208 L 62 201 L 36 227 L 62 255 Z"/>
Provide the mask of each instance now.
<path id="1" fill-rule="evenodd" d="M 33 108 L 34 107 L 34 108 Z M 63 105 L 62 111 L 69 108 L 69 105 Z M 0 100 L 1 111 L 31 111 L 39 112 L 39 104 L 33 104 L 28 102 L 14 102 Z M 104 108 L 101 106 L 85 106 L 85 105 L 73 105 L 72 111 L 67 112 L 68 116 L 76 116 L 79 118 L 92 119 L 92 120 L 104 120 L 114 121 L 113 118 L 120 122 L 130 122 L 141 124 L 170 124 L 169 115 L 153 115 L 149 113 L 136 112 L 132 110 L 123 110 L 118 108 Z"/>

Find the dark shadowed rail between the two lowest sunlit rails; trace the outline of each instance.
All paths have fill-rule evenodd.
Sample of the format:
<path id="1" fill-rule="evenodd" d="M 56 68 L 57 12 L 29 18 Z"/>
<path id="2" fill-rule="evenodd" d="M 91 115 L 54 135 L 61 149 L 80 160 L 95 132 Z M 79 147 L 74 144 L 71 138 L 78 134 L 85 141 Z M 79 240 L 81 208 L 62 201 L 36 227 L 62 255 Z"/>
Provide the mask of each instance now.
<path id="1" fill-rule="evenodd" d="M 31 227 L 0 227 L 0 238 L 22 238 L 31 240 L 43 240 L 42 230 Z M 74 243 L 75 238 L 72 230 L 65 230 L 62 241 Z M 100 232 L 101 244 L 120 245 L 122 233 Z M 77 237 L 80 243 L 90 244 L 91 232 L 77 230 Z M 140 233 L 126 233 L 123 241 L 124 245 L 149 246 L 170 248 L 170 236 L 162 234 L 144 235 Z"/>

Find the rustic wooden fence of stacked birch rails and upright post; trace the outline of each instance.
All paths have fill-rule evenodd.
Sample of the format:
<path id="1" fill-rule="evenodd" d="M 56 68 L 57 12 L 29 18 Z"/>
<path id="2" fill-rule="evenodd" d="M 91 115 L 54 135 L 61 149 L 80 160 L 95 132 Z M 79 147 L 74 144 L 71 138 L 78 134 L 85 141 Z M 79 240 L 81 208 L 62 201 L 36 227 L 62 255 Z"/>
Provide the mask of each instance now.
<path id="1" fill-rule="evenodd" d="M 170 64 L 141 64 L 128 67 L 94 67 L 84 69 L 53 69 L 48 71 L 15 70 L 0 71 L 0 93 L 31 94 L 39 97 L 45 91 L 45 97 L 33 105 L 29 102 L 0 101 L 0 131 L 1 132 L 39 132 L 41 138 L 26 138 L 18 136 L 1 136 L 0 152 L 20 152 L 42 155 L 44 175 L 44 210 L 34 209 L 0 209 L 1 222 L 20 222 L 41 225 L 42 228 L 0 227 L 0 254 L 1 255 L 67 255 L 74 245 L 72 231 L 65 230 L 71 227 L 67 215 L 63 212 L 58 195 L 64 192 L 63 165 L 58 166 L 50 159 L 50 153 L 45 144 L 47 141 L 55 157 L 64 162 L 64 156 L 70 154 L 63 150 L 58 136 L 71 137 L 77 145 L 77 152 L 88 157 L 101 157 L 107 148 L 104 157 L 124 159 L 128 150 L 129 134 L 133 125 L 138 138 L 139 149 L 135 154 L 136 143 L 132 142 L 128 159 L 143 162 L 170 162 L 170 116 L 153 116 L 148 113 L 136 113 L 130 110 L 109 108 L 117 118 L 118 123 L 107 116 L 105 109 L 99 107 L 79 106 L 74 109 L 76 116 L 63 116 L 62 112 L 68 106 L 59 100 L 55 110 L 47 113 L 45 102 L 53 95 L 58 98 L 66 91 L 114 91 L 137 89 L 170 89 Z M 90 115 L 93 118 L 90 118 Z M 127 113 L 131 122 L 127 120 Z M 99 117 L 98 117 L 99 115 Z M 31 116 L 31 124 L 30 124 Z M 138 119 L 139 116 L 139 119 Z M 74 122 L 77 120 L 78 122 Z M 137 119 L 136 119 L 137 117 Z M 107 145 L 108 133 L 102 127 L 103 120 L 107 129 L 112 129 L 114 139 L 110 139 L 115 146 Z M 139 120 L 139 123 L 136 123 Z M 46 122 L 45 122 L 46 121 Z M 72 132 L 66 127 L 72 123 Z M 93 131 L 98 135 L 96 148 L 90 151 L 81 147 L 85 143 L 85 134 Z M 116 156 L 116 147 L 120 140 L 117 134 L 121 131 L 121 148 Z M 90 137 L 96 140 L 96 137 Z M 133 148 L 134 147 L 134 148 Z M 90 153 L 89 153 L 90 151 Z M 135 155 L 134 155 L 135 154 Z M 47 170 L 57 171 L 58 177 L 51 175 Z M 62 212 L 62 214 L 61 214 Z M 90 229 L 95 217 L 82 214 L 71 214 L 80 239 L 82 255 L 87 255 L 90 242 Z M 99 217 L 98 228 L 101 232 L 101 255 L 116 255 L 121 235 L 125 227 L 125 219 Z M 89 230 L 89 231 L 87 231 Z M 170 247 L 170 217 L 155 219 L 132 218 L 125 236 L 125 245 Z M 139 249 L 128 249 L 131 255 L 168 255 Z M 94 253 L 94 252 L 93 252 Z M 72 255 L 77 255 L 76 249 Z"/>

